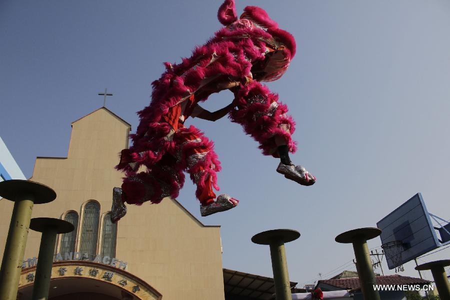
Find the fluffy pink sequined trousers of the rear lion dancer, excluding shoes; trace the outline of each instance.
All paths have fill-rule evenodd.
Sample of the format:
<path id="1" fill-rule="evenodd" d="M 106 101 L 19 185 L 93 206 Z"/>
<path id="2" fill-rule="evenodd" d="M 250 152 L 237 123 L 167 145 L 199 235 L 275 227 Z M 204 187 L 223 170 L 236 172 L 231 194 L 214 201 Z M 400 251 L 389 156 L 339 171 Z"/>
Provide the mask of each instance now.
<path id="1" fill-rule="evenodd" d="M 145 201 L 159 203 L 163 197 L 177 197 L 184 183 L 183 171 L 189 173 L 196 184 L 195 195 L 201 204 L 215 198 L 216 171 L 220 162 L 213 151 L 213 143 L 194 126 L 188 128 L 178 124 L 172 140 L 173 147 L 163 153 L 162 158 L 147 167 L 146 171 L 136 173 L 123 180 L 122 199 L 130 204 Z"/>

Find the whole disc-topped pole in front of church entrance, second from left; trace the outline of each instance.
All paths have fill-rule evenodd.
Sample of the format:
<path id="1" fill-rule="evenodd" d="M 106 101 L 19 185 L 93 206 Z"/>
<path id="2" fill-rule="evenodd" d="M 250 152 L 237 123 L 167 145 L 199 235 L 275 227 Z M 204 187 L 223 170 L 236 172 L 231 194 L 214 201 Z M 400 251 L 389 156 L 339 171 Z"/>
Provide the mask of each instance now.
<path id="1" fill-rule="evenodd" d="M 75 227 L 70 222 L 61 219 L 35 217 L 31 219 L 29 228 L 42 232 L 31 299 L 46 300 L 48 298 L 48 289 L 50 288 L 51 266 L 53 264 L 56 234 L 73 231 Z"/>

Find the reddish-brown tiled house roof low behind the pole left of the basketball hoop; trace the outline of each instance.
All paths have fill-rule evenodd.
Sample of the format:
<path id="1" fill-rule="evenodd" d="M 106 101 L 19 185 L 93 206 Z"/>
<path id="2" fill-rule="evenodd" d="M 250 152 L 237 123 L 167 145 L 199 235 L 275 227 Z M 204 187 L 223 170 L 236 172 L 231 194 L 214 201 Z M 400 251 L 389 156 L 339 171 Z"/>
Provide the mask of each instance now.
<path id="1" fill-rule="evenodd" d="M 414 278 L 400 275 L 375 276 L 375 280 L 377 284 L 428 284 L 431 282 L 429 280 L 421 278 Z M 358 277 L 318 280 L 317 285 L 320 283 L 326 283 L 329 285 L 340 287 L 342 289 L 359 288 Z"/>

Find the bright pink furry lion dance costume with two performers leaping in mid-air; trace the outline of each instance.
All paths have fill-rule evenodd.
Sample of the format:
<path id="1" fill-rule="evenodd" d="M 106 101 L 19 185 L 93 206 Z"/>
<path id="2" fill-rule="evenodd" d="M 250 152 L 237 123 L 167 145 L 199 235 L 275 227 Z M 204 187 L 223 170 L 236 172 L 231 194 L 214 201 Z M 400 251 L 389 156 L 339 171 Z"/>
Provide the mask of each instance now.
<path id="1" fill-rule="evenodd" d="M 197 186 L 201 215 L 237 205 L 226 194 L 215 199 L 212 187 L 219 189 L 220 162 L 213 143 L 194 126 L 184 126 L 189 116 L 215 120 L 229 112 L 231 121 L 259 142 L 264 155 L 281 158 L 277 172 L 303 185 L 315 182 L 304 167 L 290 162 L 288 152 L 296 150 L 291 139 L 295 122 L 286 115 L 287 106 L 259 83 L 286 71 L 295 54 L 293 36 L 256 6 L 245 7 L 238 18 L 234 0 L 225 0 L 217 16 L 225 27 L 181 63 L 165 62 L 165 72 L 152 82 L 151 102 L 138 112 L 140 123 L 130 135 L 133 144 L 122 150 L 116 166 L 126 177 L 121 188 L 113 189 L 114 222 L 126 213 L 124 202 L 139 205 L 177 197 L 183 171 Z M 212 113 L 198 105 L 221 89 L 234 93 L 230 105 Z"/>

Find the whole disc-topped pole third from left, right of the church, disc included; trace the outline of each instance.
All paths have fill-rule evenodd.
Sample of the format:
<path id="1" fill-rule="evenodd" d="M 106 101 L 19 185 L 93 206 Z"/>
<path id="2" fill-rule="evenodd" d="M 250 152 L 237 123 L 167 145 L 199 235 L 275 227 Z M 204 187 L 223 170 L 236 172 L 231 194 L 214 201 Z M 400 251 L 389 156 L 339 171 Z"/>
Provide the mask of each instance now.
<path id="1" fill-rule="evenodd" d="M 259 232 L 251 238 L 254 243 L 270 247 L 276 300 L 292 300 L 284 243 L 295 240 L 299 236 L 300 232 L 296 230 L 274 229 Z"/>

